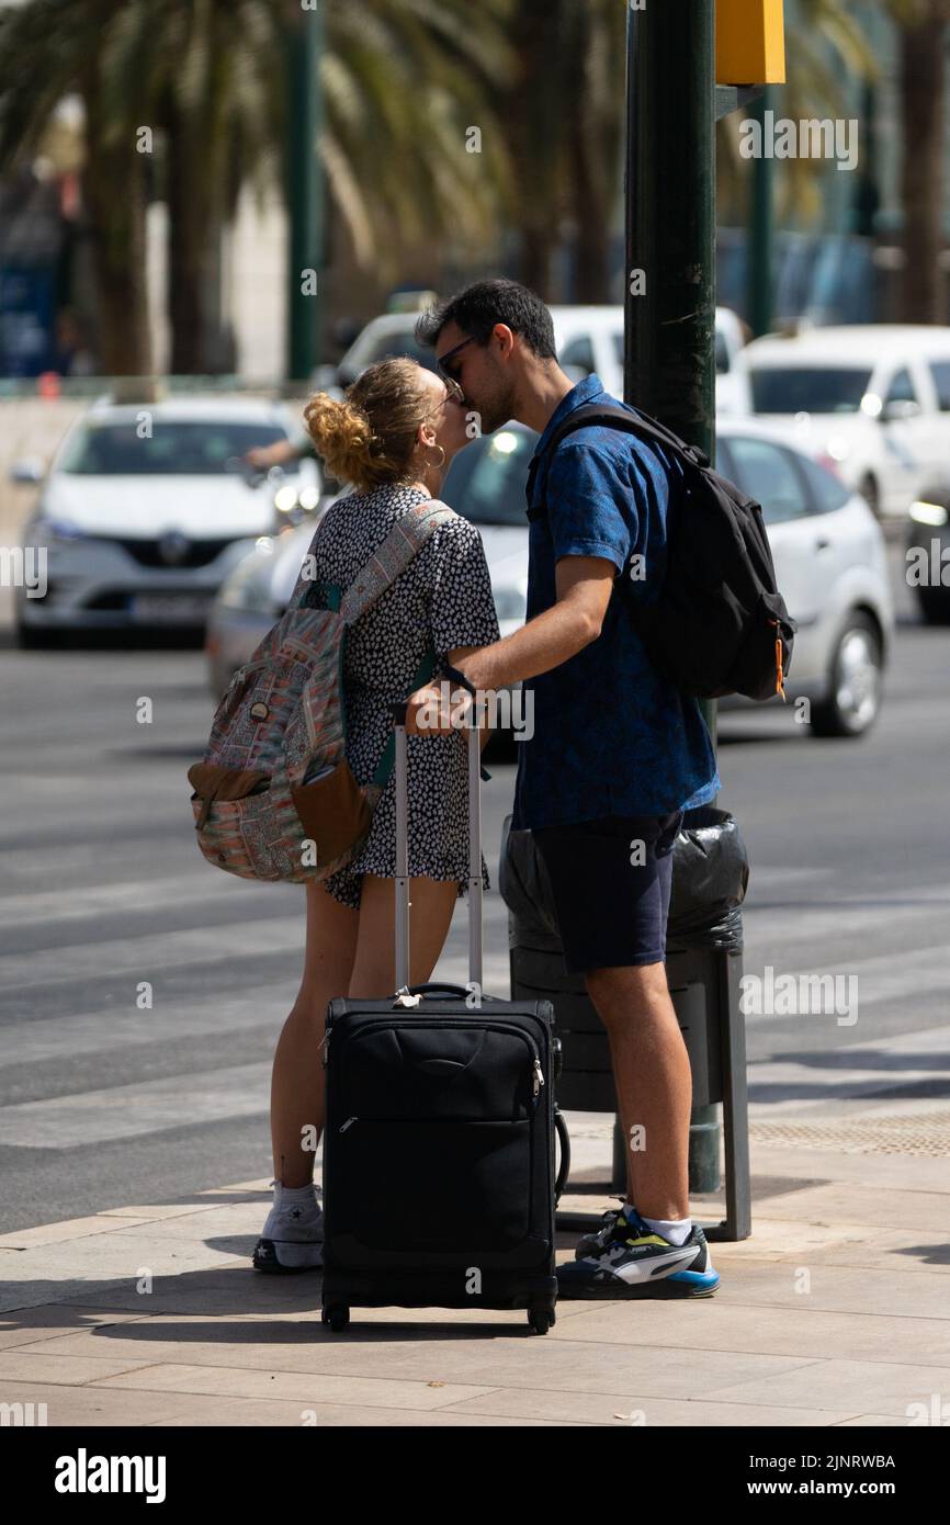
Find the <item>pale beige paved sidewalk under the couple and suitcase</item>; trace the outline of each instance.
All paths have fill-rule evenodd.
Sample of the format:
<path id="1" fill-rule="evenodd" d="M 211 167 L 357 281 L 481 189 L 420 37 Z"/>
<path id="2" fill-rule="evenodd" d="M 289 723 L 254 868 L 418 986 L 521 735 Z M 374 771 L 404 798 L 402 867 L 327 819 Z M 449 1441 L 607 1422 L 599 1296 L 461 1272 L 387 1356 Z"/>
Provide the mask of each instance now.
<path id="1" fill-rule="evenodd" d="M 802 1147 L 805 1122 L 794 1145 L 755 1124 L 753 1235 L 712 1244 L 718 1293 L 561 1302 L 543 1337 L 474 1308 L 354 1308 L 331 1334 L 317 1273 L 250 1267 L 265 1179 L 9 1234 L 0 1403 L 44 1403 L 50 1426 L 906 1426 L 950 1398 L 950 1179 L 939 1141 L 884 1153 L 877 1135 L 906 1147 L 897 1115 L 930 1138 L 941 1109 L 945 1132 L 945 1103 L 840 1104 L 823 1148 Z M 563 1206 L 599 1211 L 610 1119 L 569 1121 Z"/>

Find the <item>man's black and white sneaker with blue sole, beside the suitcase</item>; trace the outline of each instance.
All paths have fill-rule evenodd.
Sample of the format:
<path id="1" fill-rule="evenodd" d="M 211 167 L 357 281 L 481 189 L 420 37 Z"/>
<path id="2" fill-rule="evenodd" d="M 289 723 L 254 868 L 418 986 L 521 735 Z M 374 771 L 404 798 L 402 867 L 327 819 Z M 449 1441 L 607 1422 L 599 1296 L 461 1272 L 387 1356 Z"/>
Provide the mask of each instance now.
<path id="1" fill-rule="evenodd" d="M 711 1298 L 718 1284 L 698 1223 L 685 1244 L 671 1244 L 622 1208 L 581 1240 L 576 1260 L 558 1266 L 560 1298 Z"/>

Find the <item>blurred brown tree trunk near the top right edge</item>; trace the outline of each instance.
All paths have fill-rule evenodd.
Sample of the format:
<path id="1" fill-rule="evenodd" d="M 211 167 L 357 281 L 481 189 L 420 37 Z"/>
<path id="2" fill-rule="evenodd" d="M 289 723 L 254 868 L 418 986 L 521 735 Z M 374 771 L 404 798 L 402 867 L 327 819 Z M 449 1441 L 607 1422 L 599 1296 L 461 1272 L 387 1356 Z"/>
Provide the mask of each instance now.
<path id="1" fill-rule="evenodd" d="M 904 268 L 898 322 L 945 323 L 944 247 L 944 117 L 947 0 L 929 0 L 918 26 L 900 27 L 901 203 Z"/>

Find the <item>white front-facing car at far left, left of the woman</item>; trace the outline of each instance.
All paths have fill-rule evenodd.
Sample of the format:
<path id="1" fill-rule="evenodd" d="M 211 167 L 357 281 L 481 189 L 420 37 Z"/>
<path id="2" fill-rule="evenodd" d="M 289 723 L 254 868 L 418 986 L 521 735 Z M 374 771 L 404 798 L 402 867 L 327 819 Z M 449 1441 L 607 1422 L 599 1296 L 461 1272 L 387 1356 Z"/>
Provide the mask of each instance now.
<path id="1" fill-rule="evenodd" d="M 24 567 L 46 592 L 15 590 L 23 647 L 63 634 L 139 627 L 201 630 L 218 587 L 274 529 L 278 474 L 311 482 L 316 462 L 249 474 L 242 456 L 296 433 L 282 404 L 172 398 L 93 404 L 69 430 L 24 526 Z M 17 480 L 40 480 L 14 467 Z M 26 583 L 26 576 L 23 580 Z M 35 580 L 34 586 L 41 586 Z"/>

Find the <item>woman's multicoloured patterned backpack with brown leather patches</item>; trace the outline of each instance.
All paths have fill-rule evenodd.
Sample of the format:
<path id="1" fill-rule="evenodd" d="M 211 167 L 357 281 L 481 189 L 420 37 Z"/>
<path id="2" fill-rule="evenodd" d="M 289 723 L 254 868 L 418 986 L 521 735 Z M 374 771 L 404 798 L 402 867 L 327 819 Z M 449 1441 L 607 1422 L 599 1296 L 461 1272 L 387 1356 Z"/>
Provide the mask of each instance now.
<path id="1" fill-rule="evenodd" d="M 432 499 L 409 509 L 348 589 L 310 576 L 308 554 L 287 612 L 235 673 L 204 758 L 188 770 L 209 863 L 241 878 L 303 884 L 349 862 L 392 772 L 393 737 L 372 782 L 357 784 L 345 755 L 346 630 L 454 517 Z M 410 692 L 433 671 L 428 648 Z"/>

